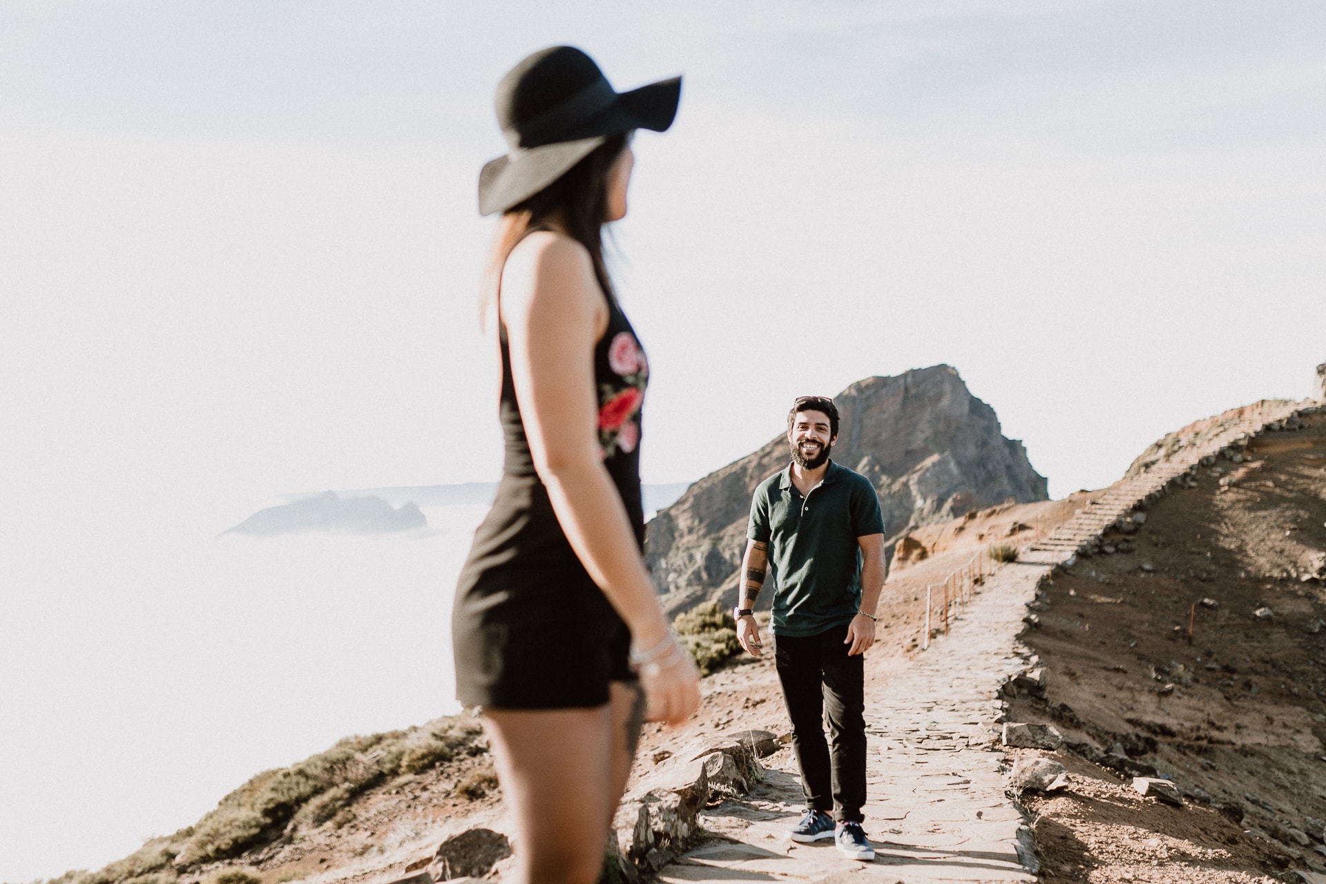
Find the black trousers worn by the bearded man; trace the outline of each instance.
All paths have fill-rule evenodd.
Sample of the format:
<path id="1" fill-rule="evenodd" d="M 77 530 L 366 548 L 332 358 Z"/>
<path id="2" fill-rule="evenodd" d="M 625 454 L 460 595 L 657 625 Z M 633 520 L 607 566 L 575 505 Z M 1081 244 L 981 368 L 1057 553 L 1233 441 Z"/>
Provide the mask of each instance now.
<path id="1" fill-rule="evenodd" d="M 847 656 L 846 637 L 846 623 L 819 635 L 776 635 L 774 664 L 806 804 L 859 823 L 866 803 L 865 655 Z"/>

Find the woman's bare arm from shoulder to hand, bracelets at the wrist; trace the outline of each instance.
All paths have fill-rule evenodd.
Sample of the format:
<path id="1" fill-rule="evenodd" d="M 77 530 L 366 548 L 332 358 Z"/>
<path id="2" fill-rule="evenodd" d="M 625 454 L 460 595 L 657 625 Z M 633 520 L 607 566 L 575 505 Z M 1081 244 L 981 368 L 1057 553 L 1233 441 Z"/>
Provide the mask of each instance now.
<path id="1" fill-rule="evenodd" d="M 607 306 L 589 253 L 565 236 L 532 233 L 507 260 L 500 310 L 530 455 L 557 521 L 630 627 L 634 644 L 654 648 L 667 637 L 668 624 L 598 455 L 594 345 L 606 329 Z M 690 659 L 683 664 L 656 677 L 693 673 Z M 655 716 L 670 721 L 691 714 L 699 702 L 693 675 L 690 688 L 668 687 L 659 696 L 648 679 L 644 687 Z"/>

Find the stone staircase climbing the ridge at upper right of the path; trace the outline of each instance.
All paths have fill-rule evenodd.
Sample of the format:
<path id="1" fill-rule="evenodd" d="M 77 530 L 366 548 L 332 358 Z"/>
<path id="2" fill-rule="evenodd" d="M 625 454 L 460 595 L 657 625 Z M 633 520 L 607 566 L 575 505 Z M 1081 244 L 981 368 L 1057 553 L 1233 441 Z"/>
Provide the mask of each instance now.
<path id="1" fill-rule="evenodd" d="M 1136 476 L 1123 478 L 1109 489 L 1105 496 L 1089 500 L 1081 510 L 1057 526 L 1048 537 L 1032 543 L 1029 551 L 1038 559 L 1063 561 L 1074 555 L 1085 543 L 1099 538 L 1110 525 L 1154 494 L 1163 492 L 1174 478 L 1193 470 L 1203 457 L 1217 455 L 1221 449 L 1265 431 L 1272 424 L 1282 424 L 1294 417 L 1306 403 L 1264 400 L 1227 411 L 1217 417 L 1201 421 L 1211 424 L 1213 435 L 1201 436 L 1177 447 L 1172 453 L 1158 456 L 1146 464 Z M 1130 470 L 1131 472 L 1131 470 Z"/>

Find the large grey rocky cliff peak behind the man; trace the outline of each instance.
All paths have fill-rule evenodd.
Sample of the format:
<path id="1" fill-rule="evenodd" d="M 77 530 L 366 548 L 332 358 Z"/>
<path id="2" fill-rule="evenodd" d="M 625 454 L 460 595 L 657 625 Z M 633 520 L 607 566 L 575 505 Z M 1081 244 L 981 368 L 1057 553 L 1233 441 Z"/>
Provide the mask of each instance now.
<path id="1" fill-rule="evenodd" d="M 874 482 L 892 543 L 907 531 L 1008 500 L 1046 500 L 1045 477 L 994 410 L 949 366 L 866 378 L 834 396 L 842 415 L 833 459 Z M 782 423 L 772 415 L 770 425 Z M 788 464 L 776 436 L 691 485 L 648 525 L 644 558 L 668 612 L 733 600 L 751 494 Z M 761 602 L 766 606 L 766 592 Z"/>

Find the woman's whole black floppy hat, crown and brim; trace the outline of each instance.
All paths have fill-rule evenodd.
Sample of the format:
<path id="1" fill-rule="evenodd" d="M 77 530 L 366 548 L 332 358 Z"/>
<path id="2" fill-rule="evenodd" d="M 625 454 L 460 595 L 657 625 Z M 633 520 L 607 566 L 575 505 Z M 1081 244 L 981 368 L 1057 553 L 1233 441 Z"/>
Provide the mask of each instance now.
<path id="1" fill-rule="evenodd" d="M 521 203 L 565 175 L 611 135 L 662 133 L 676 117 L 682 78 L 619 93 L 574 46 L 540 49 L 497 83 L 497 123 L 509 150 L 479 172 L 479 213 Z"/>

